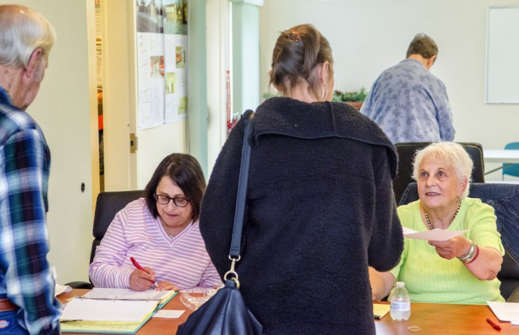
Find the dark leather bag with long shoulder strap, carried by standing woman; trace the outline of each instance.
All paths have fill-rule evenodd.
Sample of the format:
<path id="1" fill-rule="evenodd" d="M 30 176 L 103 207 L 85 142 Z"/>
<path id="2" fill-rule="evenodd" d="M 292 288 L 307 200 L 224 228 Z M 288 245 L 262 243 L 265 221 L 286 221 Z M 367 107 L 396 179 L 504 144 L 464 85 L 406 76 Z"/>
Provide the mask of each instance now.
<path id="1" fill-rule="evenodd" d="M 248 113 L 249 111 L 246 111 Z M 250 111 L 244 135 L 242 166 L 239 170 L 238 194 L 236 199 L 233 239 L 230 242 L 230 271 L 224 275 L 225 287 L 194 311 L 176 331 L 177 335 L 261 335 L 263 325 L 245 305 L 239 291 L 235 263 L 240 259 L 240 242 L 244 221 L 245 194 L 247 190 L 248 165 L 251 157 L 251 134 L 254 113 Z"/>

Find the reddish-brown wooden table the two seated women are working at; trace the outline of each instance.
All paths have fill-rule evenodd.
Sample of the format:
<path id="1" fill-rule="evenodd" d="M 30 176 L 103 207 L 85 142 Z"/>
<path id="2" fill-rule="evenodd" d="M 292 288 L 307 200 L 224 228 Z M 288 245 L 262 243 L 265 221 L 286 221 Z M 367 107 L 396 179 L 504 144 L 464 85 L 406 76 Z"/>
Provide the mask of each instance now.
<path id="1" fill-rule="evenodd" d="M 88 290 L 73 289 L 57 296 L 62 302 L 73 296 L 82 296 Z M 179 293 L 181 294 L 181 293 Z M 380 302 L 388 303 L 388 302 Z M 176 328 L 187 320 L 191 310 L 180 301 L 180 296 L 175 296 L 163 309 L 185 310 L 180 318 L 150 318 L 137 332 L 138 335 L 162 335 L 175 334 Z M 493 329 L 486 318 L 492 318 L 502 327 L 498 332 Z M 416 334 L 416 335 L 477 335 L 477 334 L 519 334 L 519 326 L 510 323 L 501 323 L 486 305 L 449 305 L 426 304 L 420 302 L 411 303 L 411 317 L 406 321 L 395 321 L 387 314 L 381 320 L 375 320 L 376 334 Z M 409 327 L 416 326 L 421 329 L 410 332 Z M 69 334 L 69 333 L 63 333 Z M 325 329 L 323 333 L 326 334 Z M 239 335 L 239 334 L 237 334 Z"/>

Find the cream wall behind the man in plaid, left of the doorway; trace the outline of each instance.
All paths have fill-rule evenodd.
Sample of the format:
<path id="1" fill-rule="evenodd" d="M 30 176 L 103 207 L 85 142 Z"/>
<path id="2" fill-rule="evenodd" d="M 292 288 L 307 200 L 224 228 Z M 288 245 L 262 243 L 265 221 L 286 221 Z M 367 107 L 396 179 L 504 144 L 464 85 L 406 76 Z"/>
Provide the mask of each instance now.
<path id="1" fill-rule="evenodd" d="M 12 2 L 0 0 L 2 4 Z M 89 53 L 87 37 L 87 17 L 93 15 L 93 0 L 16 2 L 42 13 L 53 24 L 57 35 L 44 81 L 28 108 L 51 148 L 48 260 L 56 266 L 58 282 L 88 280 L 87 265 L 93 239 L 92 193 L 96 188 L 91 163 L 98 159 L 94 157 L 97 148 L 91 152 L 93 143 L 98 141 L 97 131 L 91 127 L 93 123 L 97 126 L 95 80 L 89 78 L 89 57 L 94 57 L 95 64 L 95 53 Z M 95 41 L 91 39 L 91 42 Z M 92 47 L 95 48 L 95 44 Z M 99 174 L 99 170 L 95 173 Z M 81 192 L 83 182 L 86 189 Z"/>

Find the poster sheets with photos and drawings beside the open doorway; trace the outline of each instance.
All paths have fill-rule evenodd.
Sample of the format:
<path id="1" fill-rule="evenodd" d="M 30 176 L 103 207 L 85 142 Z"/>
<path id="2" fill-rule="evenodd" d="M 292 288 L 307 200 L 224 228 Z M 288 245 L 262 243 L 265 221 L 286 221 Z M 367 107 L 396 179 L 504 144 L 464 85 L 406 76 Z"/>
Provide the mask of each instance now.
<path id="1" fill-rule="evenodd" d="M 136 0 L 138 128 L 188 112 L 188 0 Z"/>

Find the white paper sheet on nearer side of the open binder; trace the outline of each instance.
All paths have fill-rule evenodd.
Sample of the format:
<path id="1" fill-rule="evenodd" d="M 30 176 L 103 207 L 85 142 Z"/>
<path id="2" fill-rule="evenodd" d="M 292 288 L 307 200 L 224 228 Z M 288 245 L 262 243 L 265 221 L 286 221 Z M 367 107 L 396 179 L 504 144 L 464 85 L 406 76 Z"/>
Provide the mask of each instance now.
<path id="1" fill-rule="evenodd" d="M 60 320 L 140 323 L 156 307 L 156 301 L 75 298 L 66 304 Z"/>

